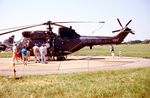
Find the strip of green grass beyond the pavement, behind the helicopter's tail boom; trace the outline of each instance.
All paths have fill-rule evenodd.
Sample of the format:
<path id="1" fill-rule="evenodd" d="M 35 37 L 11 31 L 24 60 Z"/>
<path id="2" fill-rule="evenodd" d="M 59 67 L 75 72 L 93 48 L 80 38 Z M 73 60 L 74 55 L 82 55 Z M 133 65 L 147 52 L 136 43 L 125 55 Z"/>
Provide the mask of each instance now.
<path id="1" fill-rule="evenodd" d="M 119 51 L 123 56 L 150 58 L 150 44 L 135 44 L 135 45 L 114 45 L 115 55 L 118 56 Z M 92 50 L 85 47 L 73 55 L 91 55 L 91 56 L 110 56 L 110 45 L 94 46 Z"/>

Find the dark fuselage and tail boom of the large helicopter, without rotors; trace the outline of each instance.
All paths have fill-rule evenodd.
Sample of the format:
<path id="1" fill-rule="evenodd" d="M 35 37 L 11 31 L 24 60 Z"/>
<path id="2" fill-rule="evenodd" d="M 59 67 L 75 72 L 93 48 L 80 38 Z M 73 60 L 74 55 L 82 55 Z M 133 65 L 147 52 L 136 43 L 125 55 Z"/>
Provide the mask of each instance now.
<path id="1" fill-rule="evenodd" d="M 127 28 L 116 36 L 107 37 L 80 36 L 75 32 L 75 30 L 69 28 L 60 28 L 58 35 L 46 31 L 25 31 L 22 33 L 24 40 L 20 44 L 22 44 L 22 47 L 23 45 L 27 46 L 28 44 L 32 51 L 32 48 L 35 44 L 41 46 L 47 42 L 47 39 L 50 39 L 50 46 L 55 48 L 55 56 L 59 57 L 76 52 L 85 46 L 89 46 L 90 49 L 92 49 L 92 46 L 94 45 L 120 44 L 129 32 L 130 29 Z"/>

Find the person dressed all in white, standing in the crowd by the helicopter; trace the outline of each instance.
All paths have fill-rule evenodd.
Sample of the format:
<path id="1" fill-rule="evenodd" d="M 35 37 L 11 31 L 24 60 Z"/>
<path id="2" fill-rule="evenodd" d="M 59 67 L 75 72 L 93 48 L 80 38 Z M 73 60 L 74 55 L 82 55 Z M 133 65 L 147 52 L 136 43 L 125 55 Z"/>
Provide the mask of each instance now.
<path id="1" fill-rule="evenodd" d="M 42 44 L 41 47 L 39 48 L 40 55 L 41 55 L 41 63 L 42 63 L 42 64 L 46 64 L 46 57 L 45 57 L 46 48 L 45 48 L 44 46 L 45 46 L 45 45 Z"/>

